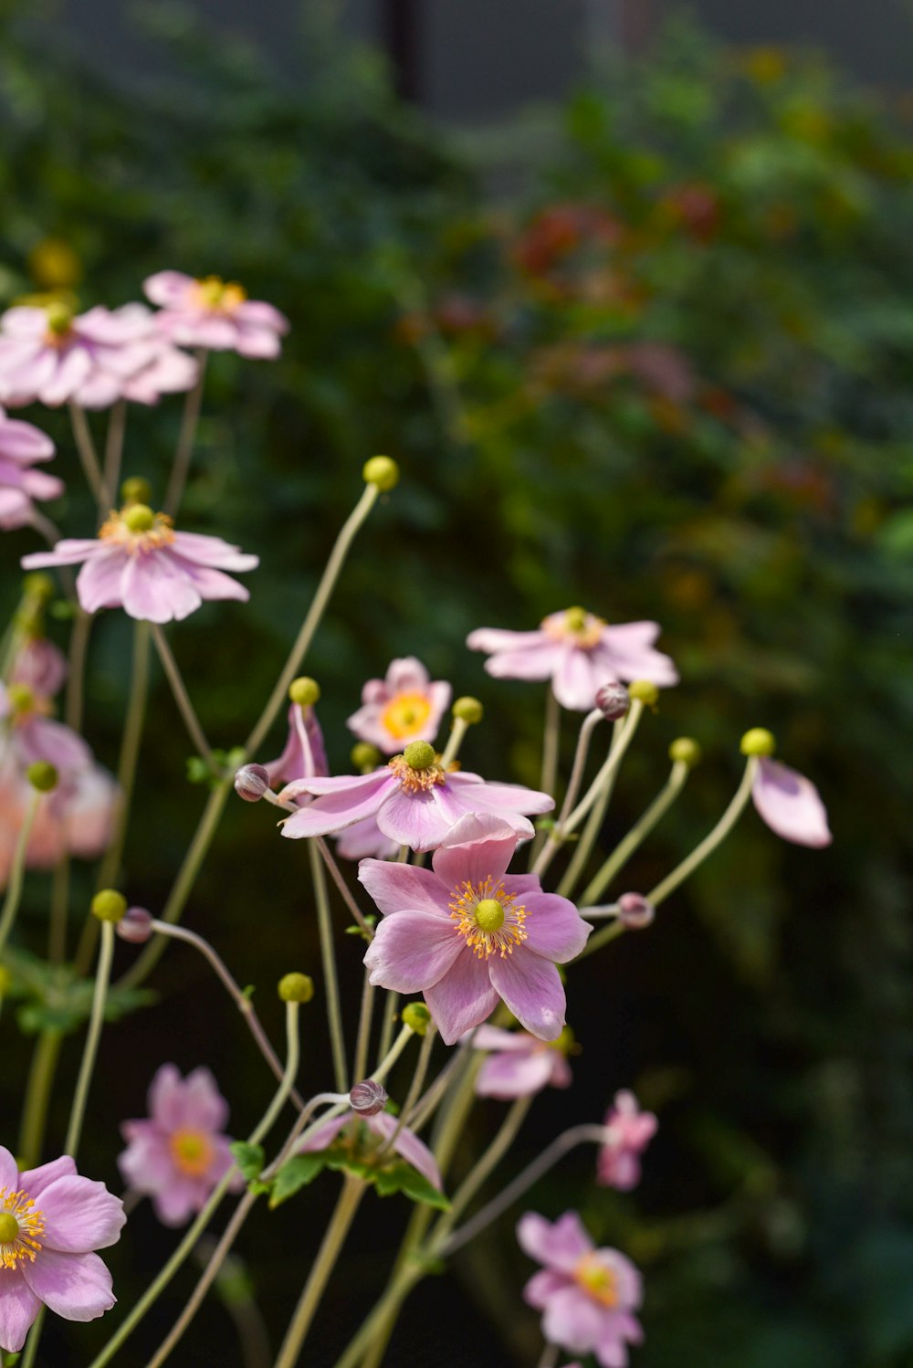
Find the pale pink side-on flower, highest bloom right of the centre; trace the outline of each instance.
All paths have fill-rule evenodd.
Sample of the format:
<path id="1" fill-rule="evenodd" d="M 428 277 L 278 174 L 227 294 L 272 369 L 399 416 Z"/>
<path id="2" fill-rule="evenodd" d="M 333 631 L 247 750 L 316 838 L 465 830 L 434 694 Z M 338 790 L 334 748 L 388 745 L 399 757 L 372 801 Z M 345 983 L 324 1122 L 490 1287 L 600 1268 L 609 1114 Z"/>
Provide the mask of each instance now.
<path id="1" fill-rule="evenodd" d="M 569 607 L 551 613 L 537 632 L 480 627 L 466 644 L 489 653 L 485 669 L 495 679 L 551 679 L 563 707 L 588 713 L 608 680 L 651 680 L 660 687 L 678 683 L 672 661 L 653 650 L 659 633 L 659 622 L 610 627 L 582 607 Z"/>

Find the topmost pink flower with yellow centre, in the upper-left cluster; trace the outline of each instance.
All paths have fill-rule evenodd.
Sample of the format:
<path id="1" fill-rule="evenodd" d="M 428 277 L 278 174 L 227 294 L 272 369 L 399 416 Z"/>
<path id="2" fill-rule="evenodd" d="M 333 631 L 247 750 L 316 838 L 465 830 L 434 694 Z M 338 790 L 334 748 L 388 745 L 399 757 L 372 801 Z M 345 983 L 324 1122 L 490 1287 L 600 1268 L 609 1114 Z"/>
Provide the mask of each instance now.
<path id="1" fill-rule="evenodd" d="M 144 290 L 161 305 L 163 335 L 179 346 L 272 358 L 288 331 L 288 319 L 272 304 L 249 300 L 241 285 L 217 275 L 194 280 L 180 271 L 159 271 L 144 282 Z"/>

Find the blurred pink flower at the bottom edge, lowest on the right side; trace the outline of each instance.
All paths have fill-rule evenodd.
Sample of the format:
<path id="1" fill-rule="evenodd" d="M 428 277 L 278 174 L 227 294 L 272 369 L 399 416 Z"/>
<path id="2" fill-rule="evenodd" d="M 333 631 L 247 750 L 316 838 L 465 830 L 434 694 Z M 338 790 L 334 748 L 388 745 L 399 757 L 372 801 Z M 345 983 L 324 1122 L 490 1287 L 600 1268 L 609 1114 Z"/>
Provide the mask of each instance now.
<path id="1" fill-rule="evenodd" d="M 571 1353 L 595 1353 L 601 1368 L 625 1368 L 627 1345 L 644 1339 L 631 1315 L 642 1301 L 634 1264 L 616 1249 L 595 1249 L 575 1211 L 554 1224 L 526 1212 L 517 1238 L 523 1253 L 544 1264 L 523 1287 L 523 1297 L 544 1312 L 545 1339 Z"/>

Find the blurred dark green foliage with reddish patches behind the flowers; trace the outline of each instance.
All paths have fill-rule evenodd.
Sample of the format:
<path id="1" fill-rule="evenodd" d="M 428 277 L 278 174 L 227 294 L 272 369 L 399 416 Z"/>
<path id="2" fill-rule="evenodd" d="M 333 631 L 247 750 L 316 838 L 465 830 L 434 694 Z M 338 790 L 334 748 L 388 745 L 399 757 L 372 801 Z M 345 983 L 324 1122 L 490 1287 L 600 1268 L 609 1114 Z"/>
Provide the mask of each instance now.
<path id="1" fill-rule="evenodd" d="M 280 363 L 210 365 L 182 521 L 262 557 L 249 609 L 206 607 L 172 633 L 210 739 L 228 747 L 247 729 L 374 451 L 402 462 L 403 482 L 362 535 L 308 662 L 336 770 L 361 681 L 414 653 L 485 702 L 467 763 L 534 782 L 541 696 L 495 688 L 463 651 L 466 632 L 533 627 L 570 603 L 660 620 L 683 684 L 644 728 L 651 744 L 626 766 L 605 843 L 663 782 L 674 736 L 697 736 L 708 758 L 626 885 L 651 886 L 715 821 L 750 725 L 769 725 L 783 759 L 816 778 L 835 843 L 797 851 L 746 818 L 660 926 L 580 971 L 580 1089 L 560 1112 L 592 1119 L 633 1083 L 660 1109 L 660 1137 L 638 1198 L 593 1193 L 588 1160 L 533 1197 L 548 1215 L 582 1202 L 595 1234 L 644 1268 L 645 1368 L 905 1368 L 909 107 L 887 108 L 816 57 L 733 53 L 679 27 L 555 111 L 544 152 L 519 176 L 508 157 L 504 176 L 503 161 L 474 163 L 398 104 L 373 56 L 317 30 L 292 88 L 180 10 L 144 14 L 168 53 L 156 82 L 105 82 L 49 51 L 46 31 L 4 23 L 0 294 L 59 283 L 52 239 L 75 252 L 85 304 L 135 298 L 146 274 L 175 267 L 236 278 L 291 317 Z M 506 181 L 522 189 L 499 192 Z M 26 416 L 59 439 L 55 468 L 74 486 L 59 521 L 85 535 L 66 425 Z M 126 473 L 159 492 L 178 421 L 176 404 L 130 415 Z M 25 532 L 4 538 L 7 605 L 30 549 Z M 113 765 L 126 624 L 107 617 L 94 647 L 89 735 Z M 131 900 L 157 907 L 202 802 L 161 684 L 150 735 L 128 866 Z M 316 963 L 305 878 L 284 850 L 287 873 L 276 869 L 269 819 L 236 808 L 191 915 L 269 985 Z M 251 937 L 251 914 L 269 930 Z M 93 1172 L 111 1166 L 113 1123 L 139 1115 L 156 1063 L 219 1071 L 236 1027 L 201 1005 L 201 974 L 179 960 L 154 985 L 160 1007 L 120 1027 L 138 1033 L 131 1070 L 119 1068 L 126 1036 L 109 1033 Z M 4 1115 L 27 1062 L 15 1052 Z M 234 1057 L 232 1071 L 254 1075 Z M 62 1129 L 67 1099 L 55 1105 Z M 521 1145 L 544 1142 L 556 1111 L 543 1105 Z M 163 1244 L 144 1219 L 152 1260 Z M 264 1305 L 286 1308 L 298 1230 L 276 1234 L 276 1220 L 254 1233 L 271 1249 Z M 515 1313 L 529 1270 L 508 1223 L 495 1238 L 462 1275 L 530 1361 L 532 1317 L 518 1328 Z M 446 1316 L 440 1297 L 428 1305 Z M 351 1320 L 347 1302 L 331 1311 Z M 224 1334 L 217 1316 L 206 1332 Z M 410 1320 L 391 1363 L 420 1363 L 436 1328 L 420 1309 Z"/>

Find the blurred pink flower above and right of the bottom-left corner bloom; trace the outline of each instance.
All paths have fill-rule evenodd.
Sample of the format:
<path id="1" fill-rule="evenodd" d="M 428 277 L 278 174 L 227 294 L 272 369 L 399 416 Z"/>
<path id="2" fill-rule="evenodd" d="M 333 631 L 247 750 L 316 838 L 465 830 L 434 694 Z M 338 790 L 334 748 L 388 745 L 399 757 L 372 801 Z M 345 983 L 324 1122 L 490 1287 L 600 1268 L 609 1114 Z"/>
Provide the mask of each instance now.
<path id="1" fill-rule="evenodd" d="M 124 1181 L 152 1197 L 163 1226 L 183 1226 L 202 1211 L 213 1187 L 234 1160 L 223 1134 L 228 1103 L 208 1068 L 182 1078 L 163 1064 L 149 1088 L 149 1120 L 124 1120 L 127 1148 L 118 1156 Z M 243 1187 L 241 1174 L 231 1190 Z"/>

